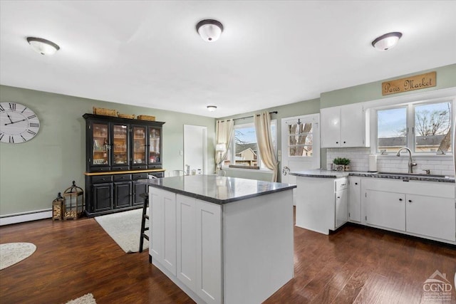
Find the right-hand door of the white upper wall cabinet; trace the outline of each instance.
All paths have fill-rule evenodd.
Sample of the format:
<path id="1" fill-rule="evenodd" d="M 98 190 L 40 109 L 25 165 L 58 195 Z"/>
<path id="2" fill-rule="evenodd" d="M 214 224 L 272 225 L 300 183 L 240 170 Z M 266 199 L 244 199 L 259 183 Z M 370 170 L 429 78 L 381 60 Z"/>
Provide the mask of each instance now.
<path id="1" fill-rule="evenodd" d="M 365 132 L 363 106 L 343 105 L 341 107 L 341 147 L 365 147 Z"/>

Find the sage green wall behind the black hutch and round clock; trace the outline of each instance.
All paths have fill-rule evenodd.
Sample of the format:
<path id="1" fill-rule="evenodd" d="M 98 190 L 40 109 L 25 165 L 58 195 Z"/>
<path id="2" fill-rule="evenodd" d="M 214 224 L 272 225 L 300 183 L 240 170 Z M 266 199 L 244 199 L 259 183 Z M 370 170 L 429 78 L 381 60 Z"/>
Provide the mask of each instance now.
<path id="1" fill-rule="evenodd" d="M 0 101 L 26 105 L 38 115 L 38 135 L 31 141 L 0 143 L 0 216 L 51 209 L 58 192 L 71 181 L 85 188 L 86 124 L 93 106 L 125 114 L 154 115 L 163 125 L 163 168 L 183 169 L 183 125 L 207 127 L 208 172 L 214 171 L 215 123 L 210 117 L 108 103 L 0 85 Z"/>

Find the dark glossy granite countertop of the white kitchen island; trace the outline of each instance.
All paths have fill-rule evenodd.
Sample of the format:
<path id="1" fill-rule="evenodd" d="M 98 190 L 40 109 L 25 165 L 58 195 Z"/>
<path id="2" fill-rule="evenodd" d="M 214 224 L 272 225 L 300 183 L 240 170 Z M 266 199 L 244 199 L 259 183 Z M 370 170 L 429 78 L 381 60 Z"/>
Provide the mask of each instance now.
<path id="1" fill-rule="evenodd" d="M 215 204 L 226 204 L 296 188 L 294 184 L 198 174 L 161 179 L 140 179 L 140 182 Z"/>

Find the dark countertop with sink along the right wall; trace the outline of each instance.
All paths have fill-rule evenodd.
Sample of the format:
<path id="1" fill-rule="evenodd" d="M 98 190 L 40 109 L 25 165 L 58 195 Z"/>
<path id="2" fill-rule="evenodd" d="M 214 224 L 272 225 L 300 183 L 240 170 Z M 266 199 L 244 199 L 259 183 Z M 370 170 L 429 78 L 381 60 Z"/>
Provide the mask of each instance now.
<path id="1" fill-rule="evenodd" d="M 395 172 L 356 172 L 356 171 L 328 171 L 323 169 L 314 169 L 298 172 L 290 172 L 296 177 L 317 177 L 317 178 L 332 178 L 339 177 L 373 177 L 380 179 L 405 179 L 423 182 L 455 182 L 455 177 L 432 175 L 432 174 L 410 174 L 410 173 L 395 173 Z"/>

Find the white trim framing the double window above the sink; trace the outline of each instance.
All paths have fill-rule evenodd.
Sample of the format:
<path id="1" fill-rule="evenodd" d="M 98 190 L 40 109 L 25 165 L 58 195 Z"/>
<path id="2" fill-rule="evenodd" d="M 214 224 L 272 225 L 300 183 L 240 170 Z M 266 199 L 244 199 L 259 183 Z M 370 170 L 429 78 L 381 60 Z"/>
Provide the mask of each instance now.
<path id="1" fill-rule="evenodd" d="M 405 96 L 396 96 L 393 98 L 385 98 L 382 100 L 372 100 L 369 102 L 364 103 L 366 109 L 371 109 L 371 154 L 377 154 L 379 157 L 395 157 L 394 153 L 390 154 L 380 154 L 377 151 L 377 110 L 385 110 L 388 108 L 399 108 L 401 105 L 420 105 L 420 104 L 429 104 L 429 103 L 442 103 L 444 101 L 451 101 L 452 103 L 452 117 L 451 123 L 452 126 L 455 125 L 455 115 L 456 115 L 456 88 L 448 88 L 442 90 L 435 90 L 426 93 L 417 93 L 413 95 L 405 95 Z M 408 107 L 407 115 L 411 115 L 413 117 L 408 119 L 412 119 L 413 123 L 415 122 L 415 117 L 413 115 L 413 111 L 409 110 Z M 410 113 L 411 112 L 411 113 Z M 407 142 L 409 143 L 414 142 L 412 132 L 408 132 L 407 135 Z M 412 138 L 410 138 L 412 137 Z M 452 141 L 455 140 L 452 138 Z M 409 144 L 408 144 L 409 146 Z M 413 146 L 415 146 L 413 144 Z M 453 152 L 445 152 L 445 154 L 436 154 L 435 152 L 419 152 L 413 154 L 414 157 L 452 157 Z"/>

